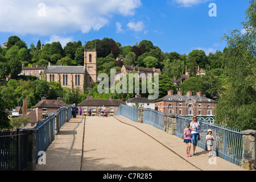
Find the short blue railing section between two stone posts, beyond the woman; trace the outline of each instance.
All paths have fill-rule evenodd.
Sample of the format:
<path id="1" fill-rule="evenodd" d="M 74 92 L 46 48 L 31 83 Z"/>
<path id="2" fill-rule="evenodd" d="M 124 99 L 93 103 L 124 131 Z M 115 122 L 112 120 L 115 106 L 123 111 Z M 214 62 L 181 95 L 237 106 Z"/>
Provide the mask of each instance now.
<path id="1" fill-rule="evenodd" d="M 153 109 L 143 109 L 143 123 L 164 130 L 164 113 Z"/>

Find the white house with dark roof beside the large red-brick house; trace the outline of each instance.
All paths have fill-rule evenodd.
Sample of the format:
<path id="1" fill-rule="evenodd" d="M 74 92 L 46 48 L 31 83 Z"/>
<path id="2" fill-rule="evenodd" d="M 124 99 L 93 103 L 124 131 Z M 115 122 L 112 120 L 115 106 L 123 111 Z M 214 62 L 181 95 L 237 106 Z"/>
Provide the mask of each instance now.
<path id="1" fill-rule="evenodd" d="M 139 106 L 142 105 L 145 109 L 154 109 L 155 110 L 155 102 L 148 100 L 148 98 L 141 97 L 140 94 L 136 94 L 134 98 L 130 98 L 126 101 L 126 104 L 128 106 L 133 106 L 135 103 L 139 104 Z"/>

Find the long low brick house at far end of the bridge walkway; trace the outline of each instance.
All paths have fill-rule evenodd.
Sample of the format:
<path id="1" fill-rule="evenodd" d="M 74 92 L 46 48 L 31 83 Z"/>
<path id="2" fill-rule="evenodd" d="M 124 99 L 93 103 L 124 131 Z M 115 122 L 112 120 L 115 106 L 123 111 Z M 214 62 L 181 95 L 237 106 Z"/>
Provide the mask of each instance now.
<path id="1" fill-rule="evenodd" d="M 93 99 L 92 96 L 87 96 L 86 100 L 82 101 L 79 105 L 77 105 L 77 107 L 82 109 L 82 114 L 84 115 L 88 114 L 87 112 L 90 107 L 90 109 L 92 109 L 92 116 L 97 116 L 98 106 L 101 106 L 101 108 L 102 106 L 105 106 L 106 112 L 109 116 L 111 116 L 117 112 L 117 109 L 121 104 L 125 105 L 125 102 L 121 100 L 112 100 L 112 96 L 110 96 L 109 99 Z"/>

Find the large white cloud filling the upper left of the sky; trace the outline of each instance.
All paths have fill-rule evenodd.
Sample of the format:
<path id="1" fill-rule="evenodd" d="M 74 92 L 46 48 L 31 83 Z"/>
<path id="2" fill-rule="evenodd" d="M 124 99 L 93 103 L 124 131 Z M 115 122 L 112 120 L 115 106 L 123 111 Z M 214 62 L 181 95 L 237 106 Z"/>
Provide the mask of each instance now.
<path id="1" fill-rule="evenodd" d="M 0 31 L 54 35 L 97 31 L 114 15 L 131 16 L 141 0 L 0 0 Z"/>

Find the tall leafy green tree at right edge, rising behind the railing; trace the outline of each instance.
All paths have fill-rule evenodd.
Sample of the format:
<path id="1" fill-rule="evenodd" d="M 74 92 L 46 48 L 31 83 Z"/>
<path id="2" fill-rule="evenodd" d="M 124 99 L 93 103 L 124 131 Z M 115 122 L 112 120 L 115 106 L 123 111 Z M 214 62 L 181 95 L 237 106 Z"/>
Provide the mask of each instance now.
<path id="1" fill-rule="evenodd" d="M 242 22 L 245 34 L 234 30 L 225 35 L 225 75 L 229 81 L 216 105 L 216 121 L 241 130 L 256 130 L 256 1 L 250 0 Z"/>

